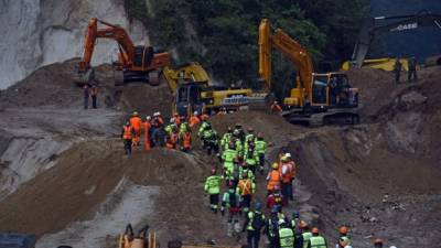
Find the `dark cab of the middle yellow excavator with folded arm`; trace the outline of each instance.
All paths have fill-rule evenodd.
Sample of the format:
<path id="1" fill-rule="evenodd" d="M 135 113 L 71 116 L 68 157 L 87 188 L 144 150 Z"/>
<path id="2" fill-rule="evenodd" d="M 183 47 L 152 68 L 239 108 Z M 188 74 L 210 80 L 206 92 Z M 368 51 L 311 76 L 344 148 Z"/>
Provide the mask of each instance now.
<path id="1" fill-rule="evenodd" d="M 202 90 L 201 83 L 197 82 L 180 85 L 176 90 L 175 112 L 180 116 L 190 116 L 194 111 L 202 112 L 204 108 Z"/>

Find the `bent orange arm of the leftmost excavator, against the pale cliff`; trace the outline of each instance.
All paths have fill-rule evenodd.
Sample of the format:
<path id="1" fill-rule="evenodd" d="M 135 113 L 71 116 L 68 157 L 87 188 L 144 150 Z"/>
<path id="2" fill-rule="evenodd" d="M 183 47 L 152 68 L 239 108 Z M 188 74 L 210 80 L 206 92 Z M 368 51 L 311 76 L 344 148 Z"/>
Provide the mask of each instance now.
<path id="1" fill-rule="evenodd" d="M 106 25 L 106 28 L 98 30 L 98 22 Z M 135 54 L 135 46 L 127 32 L 118 25 L 114 25 L 93 18 L 90 19 L 90 22 L 87 26 L 87 32 L 84 41 L 83 60 L 79 63 L 78 67 L 79 72 L 86 72 L 90 68 L 90 61 L 94 54 L 96 40 L 98 37 L 115 40 L 118 43 L 122 64 L 126 66 L 132 63 L 131 58 Z"/>

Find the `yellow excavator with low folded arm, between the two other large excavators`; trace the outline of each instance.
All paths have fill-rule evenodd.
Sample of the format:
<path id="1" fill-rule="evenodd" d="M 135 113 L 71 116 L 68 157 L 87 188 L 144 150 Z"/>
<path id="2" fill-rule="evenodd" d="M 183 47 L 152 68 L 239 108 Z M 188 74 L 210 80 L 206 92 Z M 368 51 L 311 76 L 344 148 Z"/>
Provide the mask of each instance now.
<path id="1" fill-rule="evenodd" d="M 236 111 L 265 100 L 265 95 L 257 96 L 250 88 L 214 86 L 197 62 L 176 68 L 165 66 L 162 74 L 174 95 L 173 111 L 180 116 L 189 116 L 193 111 L 216 112 L 222 108 Z"/>

